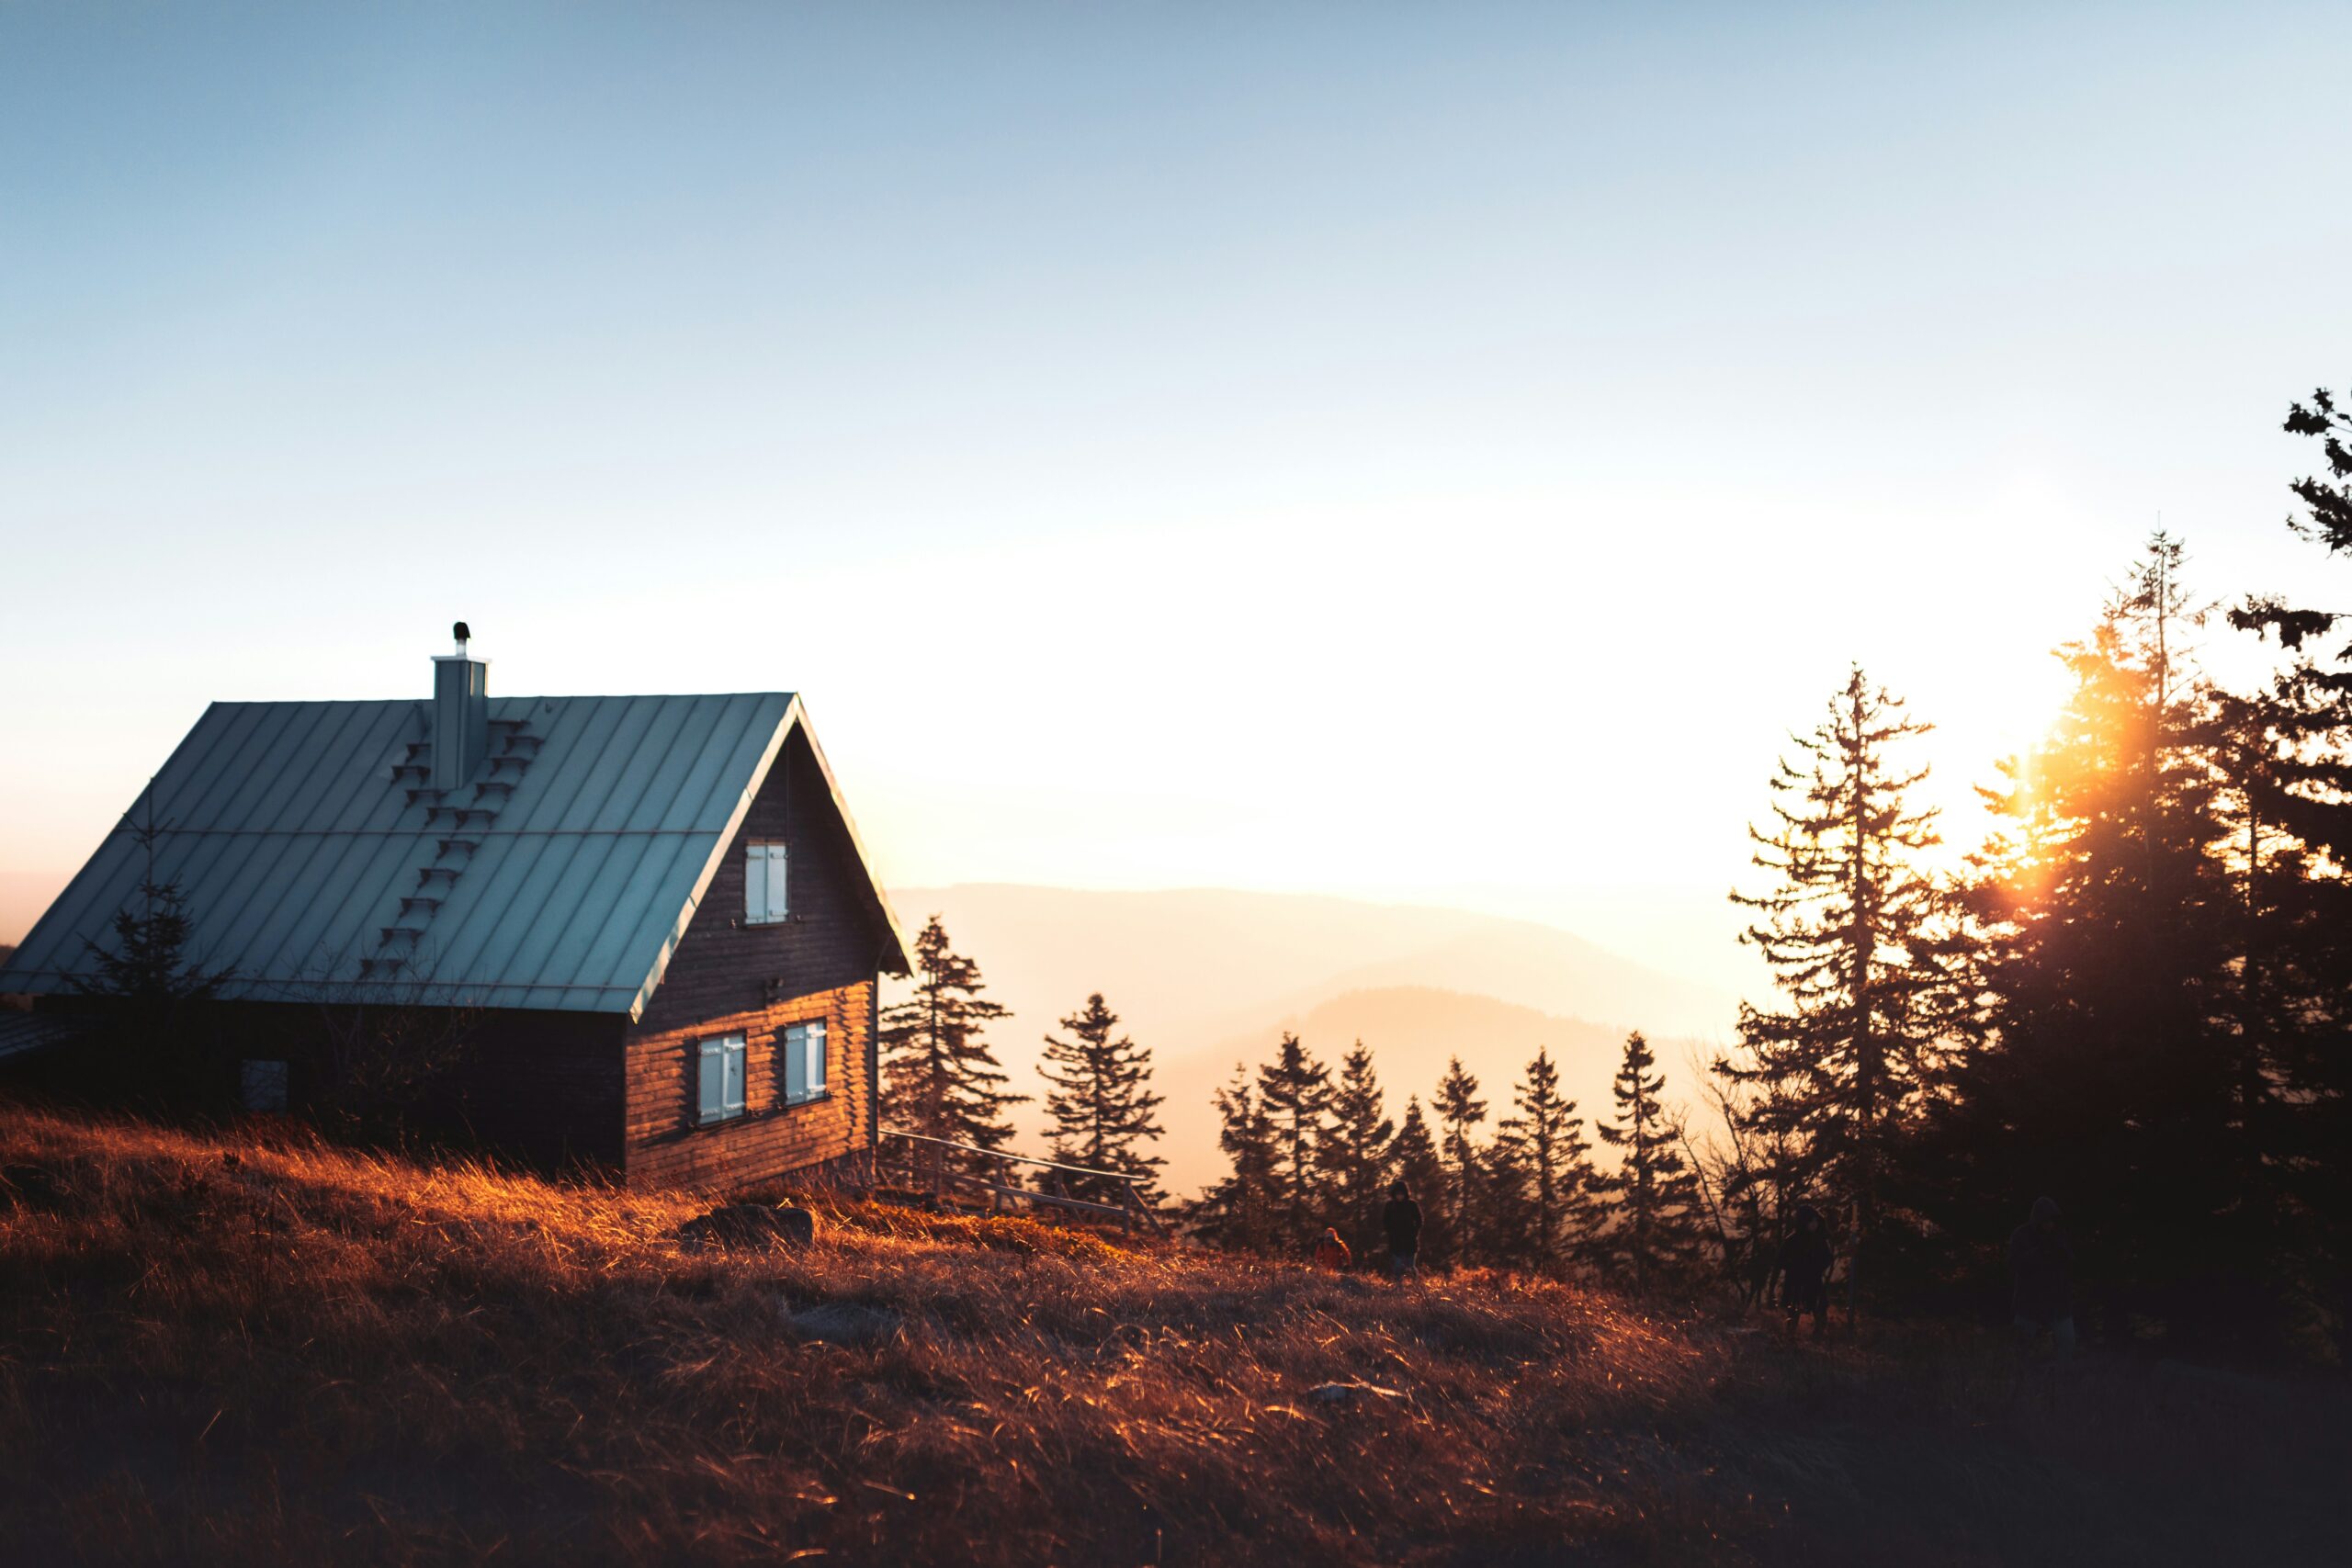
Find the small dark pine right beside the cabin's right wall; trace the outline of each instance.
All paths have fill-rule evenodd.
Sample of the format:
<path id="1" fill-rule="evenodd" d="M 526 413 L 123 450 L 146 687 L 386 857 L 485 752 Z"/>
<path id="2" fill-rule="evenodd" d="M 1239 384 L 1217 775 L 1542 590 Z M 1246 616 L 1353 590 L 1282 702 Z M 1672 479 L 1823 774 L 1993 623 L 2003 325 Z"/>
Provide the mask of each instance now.
<path id="1" fill-rule="evenodd" d="M 995 1001 L 981 999 L 981 966 L 948 945 L 948 931 L 934 914 L 915 938 L 915 994 L 882 1013 L 882 1103 L 891 1121 L 924 1138 L 997 1150 L 1011 1138 L 1004 1107 L 1028 1095 L 1004 1088 L 1004 1072 L 981 1039 L 983 1030 L 1004 1018 Z M 988 1171 L 995 1161 L 981 1154 L 931 1150 L 946 1168 Z"/>

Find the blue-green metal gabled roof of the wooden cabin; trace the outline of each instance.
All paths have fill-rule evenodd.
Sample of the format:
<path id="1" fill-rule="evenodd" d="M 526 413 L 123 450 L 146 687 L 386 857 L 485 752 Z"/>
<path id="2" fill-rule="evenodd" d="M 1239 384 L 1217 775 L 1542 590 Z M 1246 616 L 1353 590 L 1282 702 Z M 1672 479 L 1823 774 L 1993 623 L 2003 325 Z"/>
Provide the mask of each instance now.
<path id="1" fill-rule="evenodd" d="M 153 879 L 186 896 L 188 957 L 233 971 L 223 999 L 635 1018 L 786 738 L 807 733 L 783 691 L 489 698 L 489 762 L 435 795 L 416 766 L 430 710 L 214 703 L 0 990 L 54 994 L 96 973 L 87 943 L 111 945 L 148 879 L 153 823 Z M 856 844 L 847 809 L 842 823 Z M 903 966 L 877 884 L 873 898 Z"/>

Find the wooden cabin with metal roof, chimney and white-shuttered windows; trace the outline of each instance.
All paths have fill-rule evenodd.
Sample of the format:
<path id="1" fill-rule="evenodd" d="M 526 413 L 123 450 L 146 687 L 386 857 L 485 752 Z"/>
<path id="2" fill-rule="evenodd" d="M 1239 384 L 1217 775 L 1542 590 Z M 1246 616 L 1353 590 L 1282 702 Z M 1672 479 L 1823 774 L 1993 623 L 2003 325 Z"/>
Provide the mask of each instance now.
<path id="1" fill-rule="evenodd" d="M 870 1168 L 908 945 L 800 698 L 494 698 L 466 649 L 428 698 L 207 708 L 0 992 L 103 1023 L 96 952 L 174 886 L 186 959 L 226 976 L 191 1032 L 249 1110 L 301 1110 L 390 1018 L 461 1041 L 433 1105 L 534 1164 Z"/>

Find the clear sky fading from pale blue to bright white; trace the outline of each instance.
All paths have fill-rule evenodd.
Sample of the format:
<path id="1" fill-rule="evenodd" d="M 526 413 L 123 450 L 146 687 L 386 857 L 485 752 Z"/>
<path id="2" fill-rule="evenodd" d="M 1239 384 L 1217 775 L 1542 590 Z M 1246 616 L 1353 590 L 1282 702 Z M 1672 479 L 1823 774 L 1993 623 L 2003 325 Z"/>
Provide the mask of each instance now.
<path id="1" fill-rule="evenodd" d="M 1849 656 L 1964 806 L 2159 510 L 2326 571 L 2352 14 L 1656 9 L 0 7 L 0 940 L 466 616 L 901 884 L 1670 961 Z"/>

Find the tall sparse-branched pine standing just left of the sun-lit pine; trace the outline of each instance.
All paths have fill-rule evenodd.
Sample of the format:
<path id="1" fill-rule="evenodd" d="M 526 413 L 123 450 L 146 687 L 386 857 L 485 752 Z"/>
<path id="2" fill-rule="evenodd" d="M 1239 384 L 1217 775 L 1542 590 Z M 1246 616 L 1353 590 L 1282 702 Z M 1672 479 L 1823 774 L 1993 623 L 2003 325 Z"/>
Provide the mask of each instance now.
<path id="1" fill-rule="evenodd" d="M 1740 1053 L 1717 1072 L 1773 1088 L 1755 1103 L 1771 1119 L 1759 1131 L 1802 1143 L 1811 1180 L 1851 1208 L 1849 1324 L 1889 1145 L 1952 1025 L 1952 905 L 1922 865 L 1936 813 L 1907 799 L 1926 769 L 1891 759 L 1929 729 L 1856 665 L 1828 719 L 1797 738 L 1804 764 L 1780 762 L 1773 827 L 1748 830 L 1776 886 L 1731 896 L 1759 912 L 1740 940 L 1762 950 L 1785 1011 L 1743 1004 Z"/>

